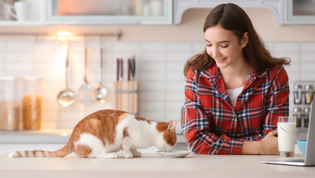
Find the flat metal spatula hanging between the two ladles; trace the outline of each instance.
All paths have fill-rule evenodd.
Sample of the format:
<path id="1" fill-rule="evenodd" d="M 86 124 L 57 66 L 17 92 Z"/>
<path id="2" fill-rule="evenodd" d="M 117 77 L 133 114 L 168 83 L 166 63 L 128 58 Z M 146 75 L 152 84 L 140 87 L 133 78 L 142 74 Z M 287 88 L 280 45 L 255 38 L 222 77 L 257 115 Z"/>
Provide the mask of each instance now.
<path id="1" fill-rule="evenodd" d="M 79 102 L 89 103 L 92 101 L 92 86 L 86 81 L 86 35 L 84 35 L 84 81 L 78 93 Z"/>

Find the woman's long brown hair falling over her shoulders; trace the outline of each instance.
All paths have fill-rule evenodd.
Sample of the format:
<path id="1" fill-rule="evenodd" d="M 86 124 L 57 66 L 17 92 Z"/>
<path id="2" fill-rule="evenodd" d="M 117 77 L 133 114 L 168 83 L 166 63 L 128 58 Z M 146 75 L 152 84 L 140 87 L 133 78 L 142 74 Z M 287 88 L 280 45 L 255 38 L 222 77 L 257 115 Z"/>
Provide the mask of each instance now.
<path id="1" fill-rule="evenodd" d="M 257 70 L 257 72 L 276 65 L 289 65 L 289 58 L 274 58 L 266 49 L 264 41 L 253 27 L 253 24 L 246 12 L 239 6 L 228 3 L 220 4 L 213 8 L 206 17 L 203 32 L 208 28 L 219 25 L 221 28 L 233 31 L 241 44 L 241 39 L 245 32 L 248 32 L 248 44 L 243 47 L 244 56 L 247 62 Z M 286 59 L 289 59 L 287 61 Z M 215 60 L 207 54 L 206 49 L 202 54 L 190 58 L 184 66 L 184 75 L 187 76 L 189 68 L 204 70 L 209 68 Z"/>

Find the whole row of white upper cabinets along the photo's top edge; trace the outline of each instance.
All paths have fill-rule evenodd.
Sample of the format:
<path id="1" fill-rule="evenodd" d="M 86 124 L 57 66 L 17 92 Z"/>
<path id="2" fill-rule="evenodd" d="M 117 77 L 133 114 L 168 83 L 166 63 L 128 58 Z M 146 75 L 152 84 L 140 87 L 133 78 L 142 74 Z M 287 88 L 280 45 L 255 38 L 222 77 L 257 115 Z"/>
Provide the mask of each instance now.
<path id="1" fill-rule="evenodd" d="M 279 25 L 314 25 L 315 0 L 0 0 L 0 26 L 42 25 L 178 25 L 191 8 L 234 3 L 241 8 L 268 8 Z M 28 12 L 27 20 L 9 21 Z M 14 12 L 15 11 L 15 12 Z M 22 15 L 23 16 L 23 15 Z M 24 15 L 25 16 L 25 15 Z"/>

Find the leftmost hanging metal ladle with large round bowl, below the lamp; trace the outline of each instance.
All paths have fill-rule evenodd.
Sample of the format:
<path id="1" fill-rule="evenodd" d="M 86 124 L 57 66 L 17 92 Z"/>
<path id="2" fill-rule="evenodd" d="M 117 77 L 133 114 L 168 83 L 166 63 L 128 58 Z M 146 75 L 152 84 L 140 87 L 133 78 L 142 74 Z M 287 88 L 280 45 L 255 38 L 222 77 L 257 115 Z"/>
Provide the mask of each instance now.
<path id="1" fill-rule="evenodd" d="M 66 87 L 63 91 L 61 91 L 57 96 L 57 101 L 63 105 L 68 106 L 75 102 L 75 94 L 68 87 L 68 46 L 65 47 L 66 51 L 66 70 L 65 70 L 65 78 L 66 78 Z"/>

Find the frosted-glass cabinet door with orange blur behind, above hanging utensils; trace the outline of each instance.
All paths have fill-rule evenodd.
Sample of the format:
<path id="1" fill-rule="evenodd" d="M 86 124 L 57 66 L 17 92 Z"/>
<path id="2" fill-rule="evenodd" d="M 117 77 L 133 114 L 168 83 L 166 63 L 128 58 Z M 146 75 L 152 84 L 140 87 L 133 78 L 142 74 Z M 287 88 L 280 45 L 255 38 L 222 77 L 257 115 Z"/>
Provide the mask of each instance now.
<path id="1" fill-rule="evenodd" d="M 172 24 L 172 0 L 46 0 L 45 24 Z"/>

